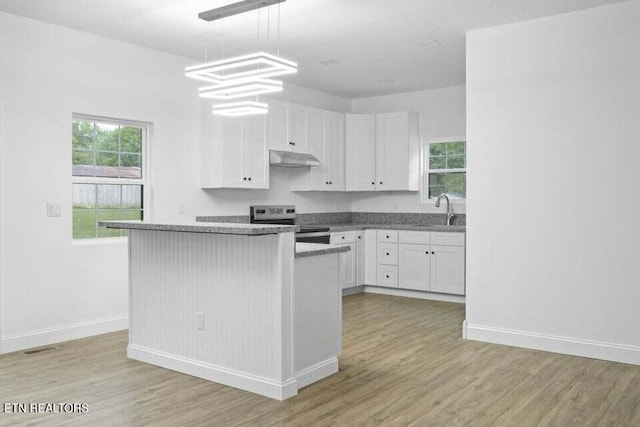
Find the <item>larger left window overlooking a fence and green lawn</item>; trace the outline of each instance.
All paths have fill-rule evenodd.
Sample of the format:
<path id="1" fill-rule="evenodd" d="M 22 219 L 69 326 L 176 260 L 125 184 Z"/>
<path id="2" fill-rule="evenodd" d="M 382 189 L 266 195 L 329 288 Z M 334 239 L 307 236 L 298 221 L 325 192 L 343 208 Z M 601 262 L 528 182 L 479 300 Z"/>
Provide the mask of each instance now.
<path id="1" fill-rule="evenodd" d="M 147 125 L 73 116 L 73 238 L 126 236 L 102 220 L 141 220 Z"/>

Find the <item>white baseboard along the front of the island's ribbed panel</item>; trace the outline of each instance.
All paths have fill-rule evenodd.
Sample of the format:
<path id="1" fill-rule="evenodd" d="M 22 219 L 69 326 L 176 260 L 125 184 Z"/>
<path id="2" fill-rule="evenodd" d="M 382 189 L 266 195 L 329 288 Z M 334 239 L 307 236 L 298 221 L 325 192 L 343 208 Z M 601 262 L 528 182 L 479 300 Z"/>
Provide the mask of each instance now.
<path id="1" fill-rule="evenodd" d="M 135 344 L 129 344 L 127 356 L 130 359 L 250 391 L 272 399 L 284 400 L 298 393 L 298 382 L 295 379 L 278 382 Z"/>

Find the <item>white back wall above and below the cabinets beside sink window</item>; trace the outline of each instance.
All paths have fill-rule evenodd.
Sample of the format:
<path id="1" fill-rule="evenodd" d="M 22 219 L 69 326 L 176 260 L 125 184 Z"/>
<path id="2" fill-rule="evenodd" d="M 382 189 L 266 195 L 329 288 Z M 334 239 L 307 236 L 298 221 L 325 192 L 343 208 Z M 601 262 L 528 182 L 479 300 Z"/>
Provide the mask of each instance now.
<path id="1" fill-rule="evenodd" d="M 420 113 L 421 141 L 465 136 L 466 133 L 464 86 L 355 99 L 351 107 L 354 113 L 417 111 Z M 354 193 L 352 209 L 358 212 L 445 212 L 444 207 L 422 203 L 420 192 Z M 455 201 L 454 209 L 465 212 L 465 202 Z"/>

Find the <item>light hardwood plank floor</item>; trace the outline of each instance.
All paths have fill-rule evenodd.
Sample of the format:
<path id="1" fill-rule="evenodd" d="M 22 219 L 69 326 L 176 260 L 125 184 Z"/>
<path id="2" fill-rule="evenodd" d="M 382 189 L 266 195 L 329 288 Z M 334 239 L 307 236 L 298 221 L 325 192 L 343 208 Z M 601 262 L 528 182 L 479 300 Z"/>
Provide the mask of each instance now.
<path id="1" fill-rule="evenodd" d="M 464 306 L 344 299 L 340 372 L 284 402 L 126 358 L 125 331 L 0 356 L 3 402 L 86 402 L 46 426 L 640 426 L 640 367 L 461 339 Z"/>

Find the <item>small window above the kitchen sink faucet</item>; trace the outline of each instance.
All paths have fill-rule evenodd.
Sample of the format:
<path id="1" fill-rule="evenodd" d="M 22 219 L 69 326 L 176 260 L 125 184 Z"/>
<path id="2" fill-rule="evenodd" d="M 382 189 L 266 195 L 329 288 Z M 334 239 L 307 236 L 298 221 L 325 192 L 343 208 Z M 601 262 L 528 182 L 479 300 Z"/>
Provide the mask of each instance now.
<path id="1" fill-rule="evenodd" d="M 425 146 L 426 199 L 447 193 L 452 199 L 467 197 L 467 149 L 464 138 L 439 138 Z"/>

